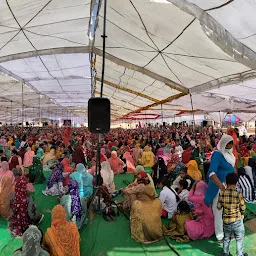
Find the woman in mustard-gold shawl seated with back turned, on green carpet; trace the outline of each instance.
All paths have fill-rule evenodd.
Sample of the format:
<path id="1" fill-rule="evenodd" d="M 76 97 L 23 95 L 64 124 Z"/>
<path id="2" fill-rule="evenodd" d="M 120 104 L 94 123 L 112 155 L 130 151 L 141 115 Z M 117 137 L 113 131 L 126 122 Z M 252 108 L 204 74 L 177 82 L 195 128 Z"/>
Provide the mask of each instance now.
<path id="1" fill-rule="evenodd" d="M 161 201 L 155 199 L 154 189 L 145 186 L 141 197 L 131 207 L 130 227 L 133 239 L 141 243 L 153 243 L 163 238 L 161 209 Z"/>

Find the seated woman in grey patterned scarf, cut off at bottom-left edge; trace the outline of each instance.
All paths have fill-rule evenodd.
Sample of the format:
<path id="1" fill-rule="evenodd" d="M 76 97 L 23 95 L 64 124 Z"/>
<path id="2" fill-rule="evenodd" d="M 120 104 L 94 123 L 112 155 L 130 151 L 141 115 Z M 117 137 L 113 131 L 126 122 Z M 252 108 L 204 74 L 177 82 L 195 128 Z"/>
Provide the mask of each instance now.
<path id="1" fill-rule="evenodd" d="M 23 234 L 23 246 L 14 252 L 13 256 L 50 256 L 42 249 L 43 233 L 36 226 L 31 225 Z"/>

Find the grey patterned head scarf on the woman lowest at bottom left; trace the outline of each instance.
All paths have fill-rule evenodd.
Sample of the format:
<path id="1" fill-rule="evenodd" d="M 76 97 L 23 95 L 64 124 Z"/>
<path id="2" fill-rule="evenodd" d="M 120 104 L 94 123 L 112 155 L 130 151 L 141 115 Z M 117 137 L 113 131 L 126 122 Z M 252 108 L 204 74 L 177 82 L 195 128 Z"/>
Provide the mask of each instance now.
<path id="1" fill-rule="evenodd" d="M 22 256 L 39 256 L 41 253 L 42 233 L 31 225 L 23 234 Z"/>

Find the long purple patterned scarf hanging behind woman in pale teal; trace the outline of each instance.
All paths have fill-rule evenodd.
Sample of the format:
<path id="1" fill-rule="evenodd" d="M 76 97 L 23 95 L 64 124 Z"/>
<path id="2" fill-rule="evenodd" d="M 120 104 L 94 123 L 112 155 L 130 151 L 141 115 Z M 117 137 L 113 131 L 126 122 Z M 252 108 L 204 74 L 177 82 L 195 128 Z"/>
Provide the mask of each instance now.
<path id="1" fill-rule="evenodd" d="M 71 213 L 75 215 L 77 219 L 81 219 L 82 216 L 82 206 L 79 197 L 79 188 L 78 183 L 75 180 L 72 180 L 68 184 L 69 194 L 71 196 Z"/>

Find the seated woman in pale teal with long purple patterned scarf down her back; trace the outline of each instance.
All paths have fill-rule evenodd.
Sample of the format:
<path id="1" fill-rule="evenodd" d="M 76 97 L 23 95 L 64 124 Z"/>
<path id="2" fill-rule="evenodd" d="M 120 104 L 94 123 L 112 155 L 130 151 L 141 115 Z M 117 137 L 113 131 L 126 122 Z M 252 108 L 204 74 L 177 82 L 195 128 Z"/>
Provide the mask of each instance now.
<path id="1" fill-rule="evenodd" d="M 85 222 L 87 206 L 84 199 L 79 197 L 78 183 L 72 180 L 68 184 L 69 195 L 61 198 L 60 204 L 64 207 L 67 220 L 76 223 L 80 230 Z"/>

